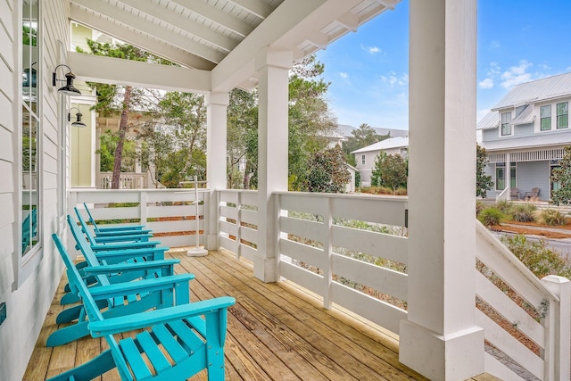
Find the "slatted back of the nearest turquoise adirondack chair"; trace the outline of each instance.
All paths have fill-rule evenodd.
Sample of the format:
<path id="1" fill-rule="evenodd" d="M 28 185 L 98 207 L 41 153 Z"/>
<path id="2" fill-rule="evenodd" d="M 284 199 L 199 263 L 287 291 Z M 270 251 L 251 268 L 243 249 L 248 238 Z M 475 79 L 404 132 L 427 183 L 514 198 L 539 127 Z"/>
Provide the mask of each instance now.
<path id="1" fill-rule="evenodd" d="M 63 247 L 62 241 L 60 238 L 53 234 L 52 238 L 54 239 L 55 246 L 57 247 L 58 252 L 62 256 L 63 263 L 65 264 L 66 273 L 68 275 L 68 280 L 70 282 L 70 287 L 72 290 L 77 291 L 85 310 L 87 312 L 87 317 L 89 321 L 101 321 L 103 320 L 103 315 L 99 311 L 97 307 L 97 303 L 89 293 L 86 284 L 81 279 L 79 275 L 78 269 L 75 267 L 73 262 L 70 259 L 69 254 Z M 116 353 L 120 352 L 120 347 L 113 335 L 106 335 L 105 339 L 107 340 L 107 344 L 109 344 L 110 348 L 112 349 L 113 358 L 117 357 Z M 123 380 L 133 380 L 133 377 L 130 375 L 128 371 L 128 367 L 124 363 L 124 361 L 120 361 L 120 359 L 115 359 L 115 363 L 117 364 L 117 368 L 119 369 L 121 379 Z"/>

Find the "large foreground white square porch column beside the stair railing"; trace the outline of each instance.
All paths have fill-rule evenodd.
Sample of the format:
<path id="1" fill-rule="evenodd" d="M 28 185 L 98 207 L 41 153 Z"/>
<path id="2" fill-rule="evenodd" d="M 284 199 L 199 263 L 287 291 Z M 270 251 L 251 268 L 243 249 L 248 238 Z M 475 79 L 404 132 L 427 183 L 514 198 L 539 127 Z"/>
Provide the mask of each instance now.
<path id="1" fill-rule="evenodd" d="M 410 1 L 408 319 L 399 360 L 433 380 L 484 372 L 476 327 L 476 0 Z"/>

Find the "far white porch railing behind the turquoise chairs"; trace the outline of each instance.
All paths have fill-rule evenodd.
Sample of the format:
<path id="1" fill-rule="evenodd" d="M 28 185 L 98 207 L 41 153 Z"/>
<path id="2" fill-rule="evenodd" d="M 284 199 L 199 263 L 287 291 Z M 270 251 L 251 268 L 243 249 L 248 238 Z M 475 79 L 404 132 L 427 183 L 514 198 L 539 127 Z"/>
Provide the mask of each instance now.
<path id="1" fill-rule="evenodd" d="M 209 202 L 206 190 L 198 191 L 198 230 L 200 243 L 204 243 L 204 204 Z M 153 230 L 153 239 L 165 246 L 193 246 L 196 243 L 196 206 L 194 189 L 146 190 L 71 190 L 69 213 L 75 217 L 73 207 L 78 206 L 87 220 L 83 203 L 87 203 L 98 223 L 144 224 Z M 101 222 L 99 222 L 101 221 Z"/>

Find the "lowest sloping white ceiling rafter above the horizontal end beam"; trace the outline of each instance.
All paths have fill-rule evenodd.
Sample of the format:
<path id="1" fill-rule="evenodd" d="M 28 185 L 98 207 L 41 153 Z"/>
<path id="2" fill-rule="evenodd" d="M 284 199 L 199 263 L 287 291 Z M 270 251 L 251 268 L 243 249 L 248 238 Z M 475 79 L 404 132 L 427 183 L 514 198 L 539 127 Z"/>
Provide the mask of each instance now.
<path id="1" fill-rule="evenodd" d="M 141 33 L 156 37 L 162 41 L 168 42 L 174 46 L 178 46 L 187 52 L 203 57 L 204 59 L 218 63 L 222 61 L 226 54 L 222 54 L 214 49 L 193 41 L 188 37 L 181 36 L 179 33 L 161 28 L 152 21 L 138 17 L 132 12 L 121 10 L 119 7 L 112 6 L 109 3 L 102 3 L 93 0 L 71 0 L 71 3 L 86 7 L 95 13 L 126 25 L 129 28 L 139 30 Z M 104 30 L 102 30 L 104 32 Z"/>

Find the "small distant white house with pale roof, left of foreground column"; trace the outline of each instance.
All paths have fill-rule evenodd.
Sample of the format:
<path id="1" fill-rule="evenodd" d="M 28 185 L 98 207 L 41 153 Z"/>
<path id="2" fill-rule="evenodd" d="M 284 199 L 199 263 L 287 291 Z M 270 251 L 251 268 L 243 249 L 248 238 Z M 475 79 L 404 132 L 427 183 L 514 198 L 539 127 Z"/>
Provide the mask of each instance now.
<path id="1" fill-rule="evenodd" d="M 371 186 L 371 174 L 375 168 L 377 156 L 381 152 L 400 154 L 406 159 L 409 156 L 409 137 L 391 137 L 352 152 L 357 162 L 357 170 L 360 171 L 361 186 Z"/>

